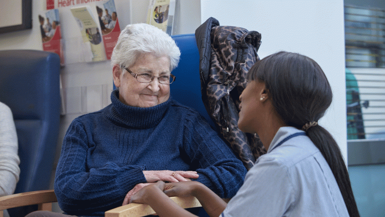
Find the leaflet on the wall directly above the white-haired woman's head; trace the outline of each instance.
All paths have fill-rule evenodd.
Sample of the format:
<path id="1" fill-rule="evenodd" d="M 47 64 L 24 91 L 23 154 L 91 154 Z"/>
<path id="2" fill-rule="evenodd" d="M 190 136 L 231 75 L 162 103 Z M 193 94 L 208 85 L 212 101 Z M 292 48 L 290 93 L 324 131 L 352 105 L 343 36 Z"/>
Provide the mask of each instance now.
<path id="1" fill-rule="evenodd" d="M 147 23 L 172 35 L 174 23 L 175 0 L 150 0 Z"/>

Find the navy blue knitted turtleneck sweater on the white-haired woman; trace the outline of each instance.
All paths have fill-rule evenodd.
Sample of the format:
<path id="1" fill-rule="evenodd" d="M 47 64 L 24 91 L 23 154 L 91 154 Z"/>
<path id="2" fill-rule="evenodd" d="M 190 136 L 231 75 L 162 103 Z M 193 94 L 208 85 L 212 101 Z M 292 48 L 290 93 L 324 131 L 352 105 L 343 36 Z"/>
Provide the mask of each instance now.
<path id="1" fill-rule="evenodd" d="M 122 204 L 143 170 L 193 170 L 222 198 L 233 197 L 246 169 L 198 112 L 175 100 L 132 107 L 111 94 L 101 111 L 73 120 L 56 170 L 60 208 L 73 215 L 104 216 Z"/>

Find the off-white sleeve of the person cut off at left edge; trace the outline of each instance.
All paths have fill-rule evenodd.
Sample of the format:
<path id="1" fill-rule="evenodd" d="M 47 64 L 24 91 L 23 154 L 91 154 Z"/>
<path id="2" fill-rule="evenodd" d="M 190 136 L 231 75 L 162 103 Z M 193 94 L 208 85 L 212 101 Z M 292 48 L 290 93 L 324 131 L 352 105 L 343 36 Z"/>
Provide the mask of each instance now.
<path id="1" fill-rule="evenodd" d="M 0 102 L 0 196 L 13 194 L 19 180 L 20 159 L 15 123 L 10 108 Z"/>

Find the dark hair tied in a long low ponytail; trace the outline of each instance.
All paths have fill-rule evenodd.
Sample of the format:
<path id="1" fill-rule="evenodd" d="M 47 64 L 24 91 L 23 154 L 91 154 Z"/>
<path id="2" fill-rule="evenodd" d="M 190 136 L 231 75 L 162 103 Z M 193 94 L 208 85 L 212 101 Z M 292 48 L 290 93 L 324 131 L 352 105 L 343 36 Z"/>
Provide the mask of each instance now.
<path id="1" fill-rule="evenodd" d="M 297 129 L 318 122 L 332 101 L 331 87 L 321 67 L 297 53 L 282 51 L 259 60 L 250 68 L 248 80 L 263 82 L 279 117 Z M 306 135 L 332 170 L 349 215 L 359 216 L 348 169 L 336 141 L 319 125 L 307 129 Z"/>

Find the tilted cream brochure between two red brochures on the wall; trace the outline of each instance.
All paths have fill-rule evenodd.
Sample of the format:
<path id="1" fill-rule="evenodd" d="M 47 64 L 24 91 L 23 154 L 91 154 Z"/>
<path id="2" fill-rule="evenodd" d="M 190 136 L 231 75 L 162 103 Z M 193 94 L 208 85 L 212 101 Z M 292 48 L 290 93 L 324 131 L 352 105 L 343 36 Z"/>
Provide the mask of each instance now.
<path id="1" fill-rule="evenodd" d="M 99 27 L 92 16 L 89 6 L 71 8 L 71 13 L 80 27 L 84 42 L 86 61 L 102 61 L 104 48 Z"/>

